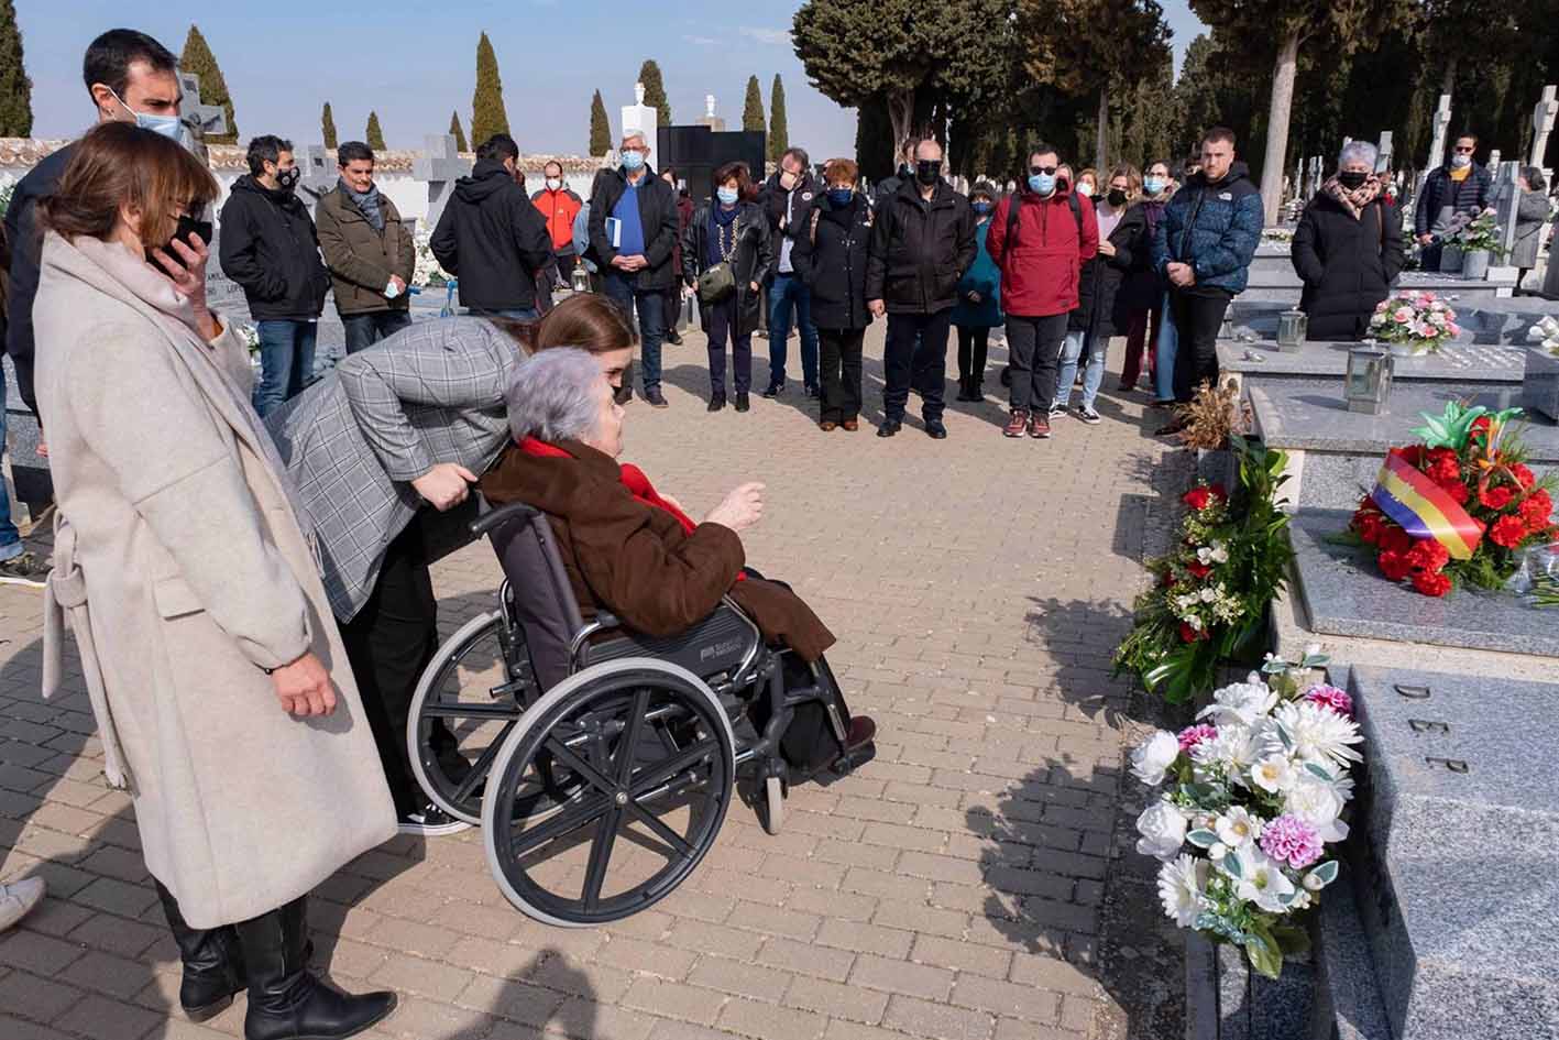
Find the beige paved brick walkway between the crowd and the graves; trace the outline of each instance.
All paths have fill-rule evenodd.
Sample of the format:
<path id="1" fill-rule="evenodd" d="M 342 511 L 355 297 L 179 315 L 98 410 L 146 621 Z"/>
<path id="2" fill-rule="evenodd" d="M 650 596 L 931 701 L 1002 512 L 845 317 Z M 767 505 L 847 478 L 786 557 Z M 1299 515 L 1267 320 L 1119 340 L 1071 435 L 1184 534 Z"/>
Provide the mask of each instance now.
<path id="1" fill-rule="evenodd" d="M 951 409 L 942 443 L 823 435 L 798 382 L 706 415 L 703 338 L 686 338 L 666 349 L 670 410 L 628 410 L 628 458 L 694 515 L 767 480 L 748 558 L 839 635 L 829 660 L 878 720 L 878 759 L 794 791 L 778 837 L 734 806 L 678 892 L 602 929 L 513 911 L 474 831 L 396 839 L 320 892 L 316 960 L 399 990 L 371 1035 L 416 1040 L 1177 1035 L 1179 962 L 1121 830 L 1141 805 L 1121 770 L 1141 709 L 1108 677 L 1155 505 L 1183 480 L 1147 437 L 1157 413 L 1107 393 L 1102 426 L 1009 441 L 992 398 Z M 879 326 L 873 421 L 881 341 Z M 437 568 L 447 630 L 497 574 L 485 546 Z M 0 878 L 50 884 L 0 937 L 0 1037 L 237 1035 L 242 999 L 207 1026 L 178 1015 L 176 953 L 80 672 L 72 695 L 39 695 L 39 608 L 0 588 Z"/>

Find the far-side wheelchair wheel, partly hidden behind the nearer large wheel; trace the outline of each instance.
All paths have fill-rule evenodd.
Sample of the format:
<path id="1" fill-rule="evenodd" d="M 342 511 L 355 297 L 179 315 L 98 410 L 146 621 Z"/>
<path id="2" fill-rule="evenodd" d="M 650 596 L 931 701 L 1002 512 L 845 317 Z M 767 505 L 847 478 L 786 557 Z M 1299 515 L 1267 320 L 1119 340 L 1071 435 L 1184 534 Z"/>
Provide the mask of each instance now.
<path id="1" fill-rule="evenodd" d="M 482 822 L 488 773 L 535 688 L 525 644 L 502 611 L 472 617 L 438 649 L 407 725 L 412 770 L 433 805 Z"/>

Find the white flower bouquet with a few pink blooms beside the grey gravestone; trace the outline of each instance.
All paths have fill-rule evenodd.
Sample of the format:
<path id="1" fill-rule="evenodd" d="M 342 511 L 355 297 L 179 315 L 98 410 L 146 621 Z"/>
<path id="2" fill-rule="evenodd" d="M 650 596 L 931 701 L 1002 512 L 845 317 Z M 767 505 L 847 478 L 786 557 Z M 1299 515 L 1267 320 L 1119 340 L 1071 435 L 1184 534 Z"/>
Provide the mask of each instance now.
<path id="1" fill-rule="evenodd" d="M 1324 663 L 1306 652 L 1297 667 Z M 1363 741 L 1349 694 L 1300 691 L 1294 667 L 1269 660 L 1266 680 L 1252 672 L 1214 691 L 1196 725 L 1158 730 L 1132 752 L 1132 773 L 1165 789 L 1137 819 L 1137 851 L 1163 862 L 1165 914 L 1243 946 L 1269 978 L 1308 948 L 1294 915 L 1338 878 L 1327 847 L 1349 836 L 1349 769 Z"/>

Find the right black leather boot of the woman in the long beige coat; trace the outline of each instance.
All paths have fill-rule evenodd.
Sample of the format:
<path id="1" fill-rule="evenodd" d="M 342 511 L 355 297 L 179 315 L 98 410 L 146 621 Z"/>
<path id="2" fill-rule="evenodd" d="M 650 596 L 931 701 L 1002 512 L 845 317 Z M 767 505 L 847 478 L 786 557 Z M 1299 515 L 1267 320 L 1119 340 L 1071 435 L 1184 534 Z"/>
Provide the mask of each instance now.
<path id="1" fill-rule="evenodd" d="M 237 925 L 249 973 L 245 1040 L 341 1040 L 384 1020 L 390 992 L 349 996 L 309 975 L 307 897 Z"/>

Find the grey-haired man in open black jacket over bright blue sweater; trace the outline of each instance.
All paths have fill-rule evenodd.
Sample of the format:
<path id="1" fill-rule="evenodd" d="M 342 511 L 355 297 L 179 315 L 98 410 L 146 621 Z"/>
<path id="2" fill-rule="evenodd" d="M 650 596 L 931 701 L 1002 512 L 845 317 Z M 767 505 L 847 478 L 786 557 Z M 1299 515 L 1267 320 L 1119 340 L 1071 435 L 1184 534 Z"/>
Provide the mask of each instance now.
<path id="1" fill-rule="evenodd" d="M 622 165 L 596 182 L 589 200 L 589 245 L 600 265 L 606 295 L 630 318 L 639 315 L 644 399 L 666 407 L 661 394 L 661 341 L 666 338 L 666 301 L 677 284 L 672 251 L 677 246 L 677 192 L 650 168 L 644 134 L 624 136 Z M 611 220 L 611 234 L 606 221 Z"/>

